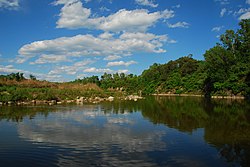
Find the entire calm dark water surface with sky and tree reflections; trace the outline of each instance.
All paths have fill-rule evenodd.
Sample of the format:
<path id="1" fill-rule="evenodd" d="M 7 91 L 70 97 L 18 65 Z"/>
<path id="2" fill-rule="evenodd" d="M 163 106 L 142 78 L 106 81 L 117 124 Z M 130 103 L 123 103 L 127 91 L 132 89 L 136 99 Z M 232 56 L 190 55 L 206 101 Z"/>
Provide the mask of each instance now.
<path id="1" fill-rule="evenodd" d="M 1 166 L 249 166 L 247 101 L 0 107 Z"/>

